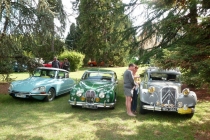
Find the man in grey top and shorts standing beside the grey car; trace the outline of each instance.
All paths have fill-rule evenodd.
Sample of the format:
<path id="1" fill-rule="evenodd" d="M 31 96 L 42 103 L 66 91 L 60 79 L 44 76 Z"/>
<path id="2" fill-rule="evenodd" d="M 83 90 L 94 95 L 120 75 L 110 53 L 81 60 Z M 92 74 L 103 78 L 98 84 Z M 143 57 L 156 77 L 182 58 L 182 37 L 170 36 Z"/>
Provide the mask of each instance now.
<path id="1" fill-rule="evenodd" d="M 129 116 L 136 116 L 131 111 L 131 100 L 133 94 L 133 87 L 135 86 L 134 79 L 133 79 L 133 72 L 135 69 L 134 64 L 129 64 L 128 69 L 124 72 L 123 79 L 124 79 L 124 94 L 125 94 L 125 105 L 127 114 Z"/>

